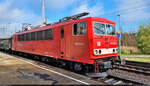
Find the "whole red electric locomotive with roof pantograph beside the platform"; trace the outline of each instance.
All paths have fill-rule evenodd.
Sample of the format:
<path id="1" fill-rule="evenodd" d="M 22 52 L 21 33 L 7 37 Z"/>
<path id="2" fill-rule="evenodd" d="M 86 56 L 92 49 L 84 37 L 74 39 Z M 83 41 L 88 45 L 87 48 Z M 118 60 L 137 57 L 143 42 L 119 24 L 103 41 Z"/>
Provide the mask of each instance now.
<path id="1" fill-rule="evenodd" d="M 118 57 L 115 22 L 99 17 L 79 19 L 87 14 L 16 33 L 12 50 L 55 59 L 75 71 L 100 73 L 109 69 Z"/>

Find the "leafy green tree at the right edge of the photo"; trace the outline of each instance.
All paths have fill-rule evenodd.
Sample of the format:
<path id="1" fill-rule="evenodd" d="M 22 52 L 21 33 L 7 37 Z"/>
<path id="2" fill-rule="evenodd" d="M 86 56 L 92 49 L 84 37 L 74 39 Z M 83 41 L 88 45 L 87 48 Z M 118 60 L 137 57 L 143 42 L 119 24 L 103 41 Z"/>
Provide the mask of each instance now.
<path id="1" fill-rule="evenodd" d="M 150 54 L 150 24 L 147 26 L 140 26 L 137 34 L 138 47 L 145 54 Z"/>

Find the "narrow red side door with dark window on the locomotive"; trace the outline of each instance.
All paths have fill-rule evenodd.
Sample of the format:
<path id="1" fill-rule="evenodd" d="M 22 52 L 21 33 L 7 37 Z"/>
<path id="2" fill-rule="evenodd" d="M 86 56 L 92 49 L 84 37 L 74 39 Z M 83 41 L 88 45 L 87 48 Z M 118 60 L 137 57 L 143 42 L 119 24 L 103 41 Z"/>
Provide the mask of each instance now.
<path id="1" fill-rule="evenodd" d="M 66 42 L 65 42 L 65 36 L 64 36 L 64 27 L 61 27 L 60 29 L 60 57 L 64 58 L 65 52 L 66 52 Z"/>

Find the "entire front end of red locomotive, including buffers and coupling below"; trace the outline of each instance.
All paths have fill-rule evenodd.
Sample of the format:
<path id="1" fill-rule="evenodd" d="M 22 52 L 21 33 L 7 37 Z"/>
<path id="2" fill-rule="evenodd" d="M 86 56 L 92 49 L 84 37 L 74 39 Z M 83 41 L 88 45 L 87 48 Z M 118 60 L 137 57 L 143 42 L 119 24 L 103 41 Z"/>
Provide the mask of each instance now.
<path id="1" fill-rule="evenodd" d="M 95 64 L 95 72 L 112 68 L 117 59 L 117 35 L 115 22 L 105 18 L 92 17 L 90 57 Z"/>

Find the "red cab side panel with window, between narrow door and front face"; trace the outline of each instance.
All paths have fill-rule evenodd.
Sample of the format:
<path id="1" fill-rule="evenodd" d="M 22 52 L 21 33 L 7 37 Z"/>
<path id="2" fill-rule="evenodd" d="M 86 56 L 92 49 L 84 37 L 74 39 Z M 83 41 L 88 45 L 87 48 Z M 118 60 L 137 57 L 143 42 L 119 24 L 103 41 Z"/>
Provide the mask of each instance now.
<path id="1" fill-rule="evenodd" d="M 89 55 L 87 22 L 74 23 L 70 34 L 70 59 L 74 61 L 86 61 Z"/>

